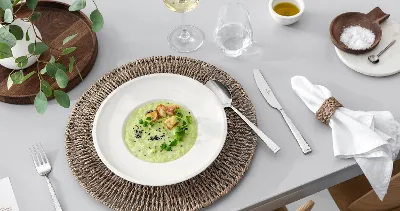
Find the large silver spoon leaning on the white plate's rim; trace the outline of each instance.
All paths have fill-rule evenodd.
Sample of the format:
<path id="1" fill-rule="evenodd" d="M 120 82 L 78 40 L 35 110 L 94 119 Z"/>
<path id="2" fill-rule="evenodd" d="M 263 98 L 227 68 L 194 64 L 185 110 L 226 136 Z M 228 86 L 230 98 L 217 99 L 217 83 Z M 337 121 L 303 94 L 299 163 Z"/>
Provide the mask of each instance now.
<path id="1" fill-rule="evenodd" d="M 215 96 L 219 99 L 222 106 L 224 108 L 231 108 L 233 111 L 236 112 L 250 127 L 253 131 L 258 135 L 258 137 L 263 140 L 267 146 L 274 152 L 277 153 L 280 148 L 276 145 L 267 135 L 265 135 L 260 129 L 258 129 L 253 123 L 250 122 L 242 113 L 240 113 L 235 107 L 232 106 L 232 97 L 229 90 L 219 81 L 216 80 L 209 80 L 206 83 L 206 86 L 214 92 Z"/>

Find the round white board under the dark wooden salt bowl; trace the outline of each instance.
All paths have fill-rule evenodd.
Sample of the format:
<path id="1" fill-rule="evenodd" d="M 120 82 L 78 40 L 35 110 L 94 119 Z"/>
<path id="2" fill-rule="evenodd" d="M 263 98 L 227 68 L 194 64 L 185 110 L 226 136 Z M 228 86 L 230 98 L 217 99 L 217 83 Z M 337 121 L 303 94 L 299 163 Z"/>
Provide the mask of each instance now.
<path id="1" fill-rule="evenodd" d="M 388 19 L 381 27 L 382 40 L 374 50 L 365 54 L 354 55 L 335 47 L 340 60 L 349 68 L 368 76 L 382 77 L 400 72 L 400 24 L 395 20 Z M 393 40 L 396 40 L 396 43 L 379 57 L 378 64 L 372 64 L 368 61 L 369 55 L 377 55 Z"/>

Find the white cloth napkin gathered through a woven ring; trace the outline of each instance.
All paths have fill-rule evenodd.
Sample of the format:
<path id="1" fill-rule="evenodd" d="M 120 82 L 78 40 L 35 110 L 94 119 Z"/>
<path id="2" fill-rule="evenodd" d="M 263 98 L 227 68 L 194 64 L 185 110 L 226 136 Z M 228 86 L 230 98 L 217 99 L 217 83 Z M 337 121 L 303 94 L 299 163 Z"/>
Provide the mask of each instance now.
<path id="1" fill-rule="evenodd" d="M 302 76 L 292 78 L 292 88 L 314 113 L 332 97 L 325 87 Z M 340 102 L 340 97 L 338 96 Z M 346 106 L 346 105 L 343 105 Z M 400 124 L 388 111 L 352 111 L 338 108 L 331 117 L 333 151 L 337 158 L 354 158 L 378 197 L 387 193 L 393 161 L 400 149 Z"/>

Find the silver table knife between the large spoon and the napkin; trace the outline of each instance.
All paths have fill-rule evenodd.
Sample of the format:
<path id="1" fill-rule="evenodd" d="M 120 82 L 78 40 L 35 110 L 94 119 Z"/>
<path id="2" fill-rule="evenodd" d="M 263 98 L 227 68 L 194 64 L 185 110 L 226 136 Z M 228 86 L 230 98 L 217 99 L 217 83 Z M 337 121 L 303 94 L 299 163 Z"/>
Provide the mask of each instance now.
<path id="1" fill-rule="evenodd" d="M 297 143 L 299 144 L 299 146 L 300 146 L 301 150 L 303 151 L 303 153 L 304 154 L 310 153 L 312 151 L 311 147 L 307 144 L 306 140 L 304 140 L 304 138 L 301 135 L 300 131 L 296 128 L 296 126 L 293 124 L 293 122 L 286 115 L 286 113 L 283 110 L 281 104 L 279 104 L 278 100 L 276 99 L 274 93 L 272 92 L 272 90 L 269 87 L 267 81 L 265 80 L 265 78 L 261 74 L 260 70 L 255 69 L 253 71 L 253 76 L 254 76 L 254 80 L 256 81 L 256 84 L 258 86 L 258 89 L 260 89 L 261 94 L 267 100 L 268 104 L 271 107 L 276 108 L 281 112 L 283 118 L 286 121 L 286 124 L 289 126 L 290 130 L 292 131 L 292 134 L 296 138 Z"/>

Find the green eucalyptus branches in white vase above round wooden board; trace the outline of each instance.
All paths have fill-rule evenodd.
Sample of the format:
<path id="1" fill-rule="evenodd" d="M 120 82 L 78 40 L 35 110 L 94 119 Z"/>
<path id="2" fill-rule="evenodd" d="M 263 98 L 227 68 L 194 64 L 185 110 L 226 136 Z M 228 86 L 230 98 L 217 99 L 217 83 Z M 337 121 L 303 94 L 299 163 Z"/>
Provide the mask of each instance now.
<path id="1" fill-rule="evenodd" d="M 0 0 L 2 1 L 2 0 Z M 10 0 L 4 0 L 10 1 Z M 87 0 L 73 0 L 73 3 L 69 7 L 69 11 L 80 11 L 85 8 Z M 103 16 L 96 4 L 95 0 L 91 0 L 95 6 L 95 10 L 90 13 L 90 21 L 92 22 L 92 31 L 99 32 L 104 25 Z M 78 68 L 78 64 L 75 62 L 75 57 L 70 55 L 77 48 L 74 46 L 66 45 L 72 39 L 74 39 L 77 34 L 69 35 L 65 37 L 62 43 L 62 46 L 50 46 L 39 36 L 39 31 L 34 26 L 34 22 L 40 18 L 40 12 L 35 12 L 35 9 L 40 6 L 38 0 L 26 0 L 21 1 L 18 4 L 0 4 L 0 8 L 3 11 L 3 15 L 5 20 L 9 23 L 6 23 L 4 19 L 0 19 L 0 24 L 4 27 L 0 32 L 0 59 L 12 58 L 15 61 L 15 69 L 13 69 L 9 74 L 9 81 L 7 81 L 7 87 L 10 88 L 13 84 L 22 84 L 29 77 L 34 76 L 35 73 L 40 80 L 40 86 L 38 93 L 35 97 L 35 108 L 36 111 L 40 114 L 43 114 L 47 109 L 47 100 L 49 97 L 56 98 L 57 102 L 65 108 L 70 106 L 70 99 L 68 94 L 66 94 L 63 89 L 68 85 L 68 72 L 77 71 L 77 74 L 83 80 L 80 69 Z M 15 8 L 15 10 L 13 10 Z M 25 9 L 30 10 L 29 17 L 19 17 L 21 16 L 19 13 Z M 11 13 L 10 13 L 11 10 Z M 25 12 L 24 12 L 25 13 Z M 25 13 L 26 14 L 26 13 Z M 22 20 L 23 22 L 20 24 L 16 22 L 17 19 Z M 13 24 L 13 25 L 12 25 Z M 26 29 L 27 28 L 27 29 Z M 51 29 L 50 29 L 51 30 Z M 33 35 L 34 34 L 34 35 Z M 25 36 L 24 36 L 25 35 Z M 16 43 L 23 41 L 29 41 L 27 43 L 28 55 L 16 54 L 13 55 L 12 48 L 16 45 Z M 34 40 L 31 40 L 34 39 Z M 51 55 L 50 61 L 43 61 L 39 57 L 40 55 L 44 55 L 45 52 L 48 52 Z M 66 65 L 63 58 L 64 56 L 69 57 L 69 65 Z M 29 73 L 24 73 L 23 68 L 26 68 L 28 64 L 28 60 L 32 57 L 36 58 L 36 68 Z M 43 59 L 43 58 L 42 58 Z M 79 61 L 79 60 L 78 60 Z M 40 67 L 44 66 L 44 69 L 40 69 Z M 17 69 L 20 69 L 18 71 Z M 26 69 L 25 69 L 26 70 Z M 44 70 L 44 71 L 42 71 Z M 46 81 L 47 76 L 56 80 L 59 89 L 53 89 L 51 84 Z M 35 76 L 36 77 L 36 76 Z"/>

